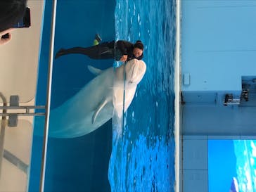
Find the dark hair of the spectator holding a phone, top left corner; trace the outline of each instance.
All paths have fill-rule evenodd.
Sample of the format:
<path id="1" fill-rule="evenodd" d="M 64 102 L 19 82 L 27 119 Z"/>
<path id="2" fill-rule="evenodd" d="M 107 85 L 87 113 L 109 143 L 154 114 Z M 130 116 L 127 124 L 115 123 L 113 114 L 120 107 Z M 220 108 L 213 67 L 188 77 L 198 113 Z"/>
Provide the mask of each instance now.
<path id="1" fill-rule="evenodd" d="M 23 18 L 27 0 L 0 0 L 0 32 L 8 30 Z"/>

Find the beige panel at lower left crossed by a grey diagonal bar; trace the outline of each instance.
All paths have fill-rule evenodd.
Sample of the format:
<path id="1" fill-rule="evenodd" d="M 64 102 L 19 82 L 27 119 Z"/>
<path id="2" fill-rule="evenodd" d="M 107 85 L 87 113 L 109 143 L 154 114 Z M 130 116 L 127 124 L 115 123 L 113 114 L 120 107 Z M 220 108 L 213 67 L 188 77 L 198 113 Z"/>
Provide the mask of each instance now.
<path id="1" fill-rule="evenodd" d="M 32 123 L 19 120 L 17 127 L 1 129 L 0 191 L 27 191 L 28 169 L 32 144 Z"/>

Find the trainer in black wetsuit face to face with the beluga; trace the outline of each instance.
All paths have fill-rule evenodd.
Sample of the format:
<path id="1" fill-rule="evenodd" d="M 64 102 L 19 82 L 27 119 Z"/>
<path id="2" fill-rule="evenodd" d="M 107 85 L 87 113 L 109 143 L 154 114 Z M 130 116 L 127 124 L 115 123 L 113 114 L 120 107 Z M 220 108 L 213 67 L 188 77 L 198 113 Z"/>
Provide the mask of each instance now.
<path id="1" fill-rule="evenodd" d="M 55 58 L 67 54 L 78 53 L 89 56 L 93 59 L 108 59 L 127 61 L 133 58 L 143 58 L 143 44 L 141 41 L 136 41 L 135 44 L 129 41 L 110 41 L 89 47 L 73 47 L 71 49 L 60 49 L 56 53 Z"/>

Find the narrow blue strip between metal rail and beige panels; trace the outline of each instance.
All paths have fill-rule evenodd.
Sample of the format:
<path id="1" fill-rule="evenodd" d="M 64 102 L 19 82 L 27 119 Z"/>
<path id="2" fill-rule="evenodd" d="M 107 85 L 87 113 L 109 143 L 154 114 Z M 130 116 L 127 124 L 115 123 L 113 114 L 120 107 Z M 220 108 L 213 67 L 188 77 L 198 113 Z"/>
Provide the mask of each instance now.
<path id="1" fill-rule="evenodd" d="M 44 27 L 42 29 L 42 34 L 41 34 L 39 72 L 37 77 L 38 78 L 37 94 L 36 94 L 37 105 L 45 105 L 46 103 L 46 91 L 47 91 L 46 84 L 47 84 L 49 47 L 50 47 L 49 34 L 51 32 L 51 3 L 52 3 L 51 1 L 45 1 L 45 4 L 44 4 L 44 15 L 43 15 Z M 38 87 L 40 89 L 38 89 Z M 37 129 L 37 127 L 43 126 L 38 123 L 37 119 L 44 120 L 44 117 L 34 117 L 34 129 Z M 39 132 L 41 132 L 41 135 L 44 135 L 43 130 L 40 130 Z M 39 191 L 42 147 L 43 147 L 43 138 L 39 136 L 33 136 L 28 191 Z"/>

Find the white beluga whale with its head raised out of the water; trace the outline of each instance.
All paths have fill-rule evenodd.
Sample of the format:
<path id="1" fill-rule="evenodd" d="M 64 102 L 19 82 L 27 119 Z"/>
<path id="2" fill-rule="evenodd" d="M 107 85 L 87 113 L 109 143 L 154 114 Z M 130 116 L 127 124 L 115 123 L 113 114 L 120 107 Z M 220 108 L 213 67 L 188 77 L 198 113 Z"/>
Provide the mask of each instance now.
<path id="1" fill-rule="evenodd" d="M 132 103 L 146 64 L 143 60 L 132 59 L 119 68 L 99 70 L 88 66 L 88 69 L 96 77 L 63 105 L 51 110 L 49 136 L 83 136 L 110 120 L 114 111 L 122 117 Z"/>

